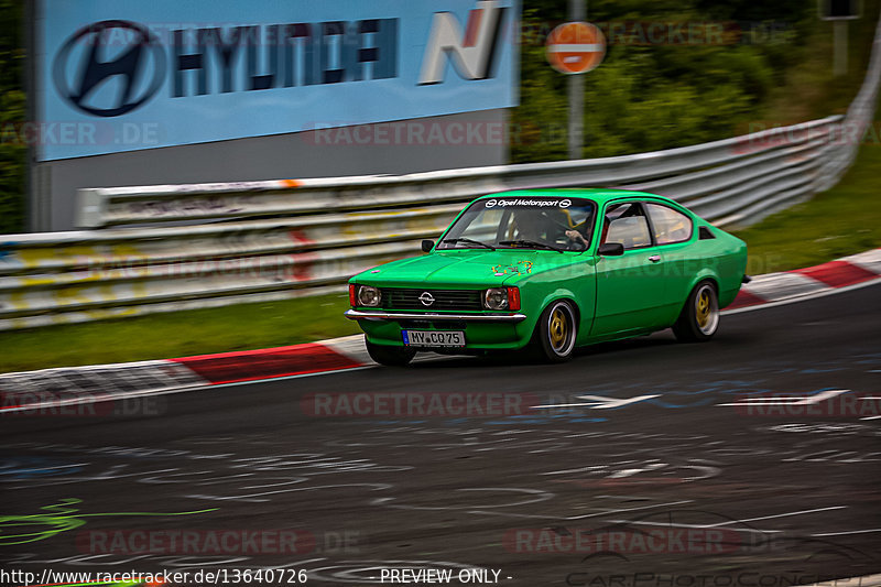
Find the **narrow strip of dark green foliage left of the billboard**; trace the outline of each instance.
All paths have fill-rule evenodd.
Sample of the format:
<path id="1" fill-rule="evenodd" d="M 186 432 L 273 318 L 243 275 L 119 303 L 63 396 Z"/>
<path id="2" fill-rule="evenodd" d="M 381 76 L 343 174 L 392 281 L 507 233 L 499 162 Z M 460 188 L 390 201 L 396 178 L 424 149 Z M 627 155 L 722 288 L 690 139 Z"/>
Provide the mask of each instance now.
<path id="1" fill-rule="evenodd" d="M 28 149 L 18 139 L 26 117 L 22 2 L 0 0 L 0 233 L 21 232 Z"/>

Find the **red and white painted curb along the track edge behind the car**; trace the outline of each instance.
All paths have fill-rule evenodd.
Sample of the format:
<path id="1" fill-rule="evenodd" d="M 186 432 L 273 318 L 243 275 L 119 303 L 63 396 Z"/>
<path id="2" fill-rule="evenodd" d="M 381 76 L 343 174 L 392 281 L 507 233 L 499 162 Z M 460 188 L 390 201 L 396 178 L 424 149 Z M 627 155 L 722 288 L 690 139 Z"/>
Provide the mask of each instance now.
<path id="1" fill-rule="evenodd" d="M 881 280 L 881 249 L 822 265 L 759 275 L 724 314 L 809 300 Z M 291 379 L 373 366 L 361 335 L 240 352 L 0 374 L 0 414 L 43 413 L 268 379 Z"/>

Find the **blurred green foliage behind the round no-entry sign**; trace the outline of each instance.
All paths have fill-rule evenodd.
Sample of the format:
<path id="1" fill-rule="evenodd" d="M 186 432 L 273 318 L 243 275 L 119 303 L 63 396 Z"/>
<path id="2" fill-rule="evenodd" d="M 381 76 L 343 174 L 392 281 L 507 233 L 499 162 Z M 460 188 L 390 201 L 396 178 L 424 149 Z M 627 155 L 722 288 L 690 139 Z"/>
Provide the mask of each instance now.
<path id="1" fill-rule="evenodd" d="M 804 0 L 589 0 L 586 4 L 587 20 L 607 31 L 609 23 L 687 28 L 713 22 L 725 24 L 725 43 L 640 45 L 620 42 L 618 33 L 603 63 L 585 75 L 585 157 L 714 141 L 735 135 L 760 117 L 780 120 L 787 116 L 787 106 L 803 99 L 797 87 L 786 86 L 787 73 L 806 61 L 808 41 L 828 32 L 824 28 L 828 23 L 816 17 L 816 6 Z M 874 22 L 877 4 L 867 0 L 864 20 Z M 567 0 L 524 0 L 520 106 L 512 115 L 521 130 L 520 140 L 511 145 L 514 163 L 567 157 L 568 76 L 551 68 L 544 47 L 547 33 L 567 20 Z M 851 69 L 863 72 L 861 64 L 855 65 Z M 830 77 L 825 67 L 820 75 Z M 852 96 L 859 83 L 861 76 L 848 79 L 844 91 Z M 781 102 L 781 93 L 790 105 Z M 781 104 L 769 111 L 772 100 Z M 813 101 L 812 107 L 829 106 L 823 97 Z M 798 119 L 805 113 L 792 110 Z"/>

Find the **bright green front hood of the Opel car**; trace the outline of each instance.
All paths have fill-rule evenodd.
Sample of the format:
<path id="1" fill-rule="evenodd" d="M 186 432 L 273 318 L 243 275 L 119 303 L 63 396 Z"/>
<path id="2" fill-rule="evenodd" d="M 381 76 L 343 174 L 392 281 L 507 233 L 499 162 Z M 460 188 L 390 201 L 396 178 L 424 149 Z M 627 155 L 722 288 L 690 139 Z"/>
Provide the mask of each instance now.
<path id="1" fill-rule="evenodd" d="M 512 284 L 535 273 L 584 260 L 584 256 L 577 253 L 529 249 L 435 251 L 365 271 L 356 275 L 356 280 L 380 286 L 487 286 Z"/>

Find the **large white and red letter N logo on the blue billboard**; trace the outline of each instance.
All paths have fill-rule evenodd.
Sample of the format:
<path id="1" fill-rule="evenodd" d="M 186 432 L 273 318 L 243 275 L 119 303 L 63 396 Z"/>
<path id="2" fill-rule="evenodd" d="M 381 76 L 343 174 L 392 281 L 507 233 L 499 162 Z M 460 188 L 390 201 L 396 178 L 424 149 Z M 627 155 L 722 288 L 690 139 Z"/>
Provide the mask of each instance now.
<path id="1" fill-rule="evenodd" d="M 480 0 L 468 14 L 465 33 L 452 12 L 435 12 L 422 57 L 420 85 L 444 80 L 445 57 L 449 57 L 456 73 L 465 79 L 492 77 L 507 10 L 499 7 L 498 0 Z"/>

